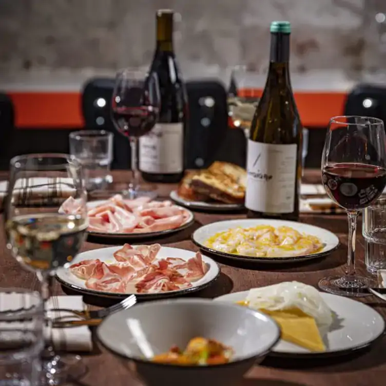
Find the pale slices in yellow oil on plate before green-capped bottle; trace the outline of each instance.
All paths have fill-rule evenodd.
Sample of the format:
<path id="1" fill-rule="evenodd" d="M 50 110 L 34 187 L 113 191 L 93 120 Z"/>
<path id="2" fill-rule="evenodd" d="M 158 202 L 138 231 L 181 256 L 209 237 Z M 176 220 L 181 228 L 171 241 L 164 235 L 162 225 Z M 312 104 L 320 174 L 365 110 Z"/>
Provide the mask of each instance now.
<path id="1" fill-rule="evenodd" d="M 258 225 L 231 228 L 209 237 L 205 246 L 233 255 L 292 257 L 311 255 L 323 247 L 321 240 L 290 226 Z"/>

